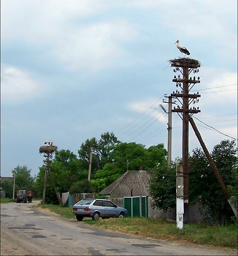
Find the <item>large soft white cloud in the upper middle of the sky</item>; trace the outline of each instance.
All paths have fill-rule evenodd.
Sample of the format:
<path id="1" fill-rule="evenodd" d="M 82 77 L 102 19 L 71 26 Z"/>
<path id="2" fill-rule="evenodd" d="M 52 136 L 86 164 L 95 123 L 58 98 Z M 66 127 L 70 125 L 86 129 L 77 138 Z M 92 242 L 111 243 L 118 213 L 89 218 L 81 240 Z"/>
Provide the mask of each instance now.
<path id="1" fill-rule="evenodd" d="M 70 69 L 97 70 L 108 66 L 123 55 L 120 42 L 136 37 L 133 27 L 119 19 L 78 25 L 67 30 L 53 52 Z"/>

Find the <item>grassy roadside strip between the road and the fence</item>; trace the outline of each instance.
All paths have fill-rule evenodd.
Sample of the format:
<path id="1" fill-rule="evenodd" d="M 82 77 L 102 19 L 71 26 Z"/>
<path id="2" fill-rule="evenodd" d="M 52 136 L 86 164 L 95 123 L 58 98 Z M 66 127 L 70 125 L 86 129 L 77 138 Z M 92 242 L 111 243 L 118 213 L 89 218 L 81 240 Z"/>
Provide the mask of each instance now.
<path id="1" fill-rule="evenodd" d="M 71 208 L 58 205 L 36 205 L 51 210 L 68 219 L 75 219 Z M 153 239 L 189 242 L 200 245 L 219 246 L 237 250 L 237 225 L 206 226 L 202 223 L 184 224 L 183 229 L 176 228 L 176 223 L 155 218 L 110 218 L 99 221 L 84 218 L 86 225 L 95 226 L 124 234 L 150 237 Z"/>

